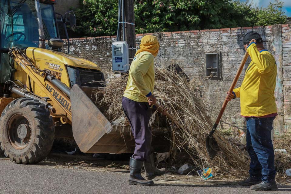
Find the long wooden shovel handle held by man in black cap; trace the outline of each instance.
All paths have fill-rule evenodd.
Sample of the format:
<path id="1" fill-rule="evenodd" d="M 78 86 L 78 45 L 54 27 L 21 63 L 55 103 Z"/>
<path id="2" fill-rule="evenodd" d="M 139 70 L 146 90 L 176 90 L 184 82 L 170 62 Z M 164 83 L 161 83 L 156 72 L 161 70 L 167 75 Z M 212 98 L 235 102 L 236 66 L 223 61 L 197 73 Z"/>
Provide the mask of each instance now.
<path id="1" fill-rule="evenodd" d="M 234 89 L 234 87 L 236 86 L 236 82 L 237 82 L 237 80 L 239 79 L 239 75 L 240 75 L 241 72 L 243 71 L 243 67 L 244 67 L 244 65 L 245 65 L 246 60 L 248 59 L 248 57 L 249 57 L 249 53 L 246 52 L 245 55 L 243 56 L 243 60 L 242 60 L 242 62 L 241 62 L 240 65 L 239 65 L 239 69 L 238 69 L 237 72 L 236 72 L 236 76 L 234 77 L 234 79 L 233 79 L 233 81 L 232 81 L 232 84 L 231 84 L 231 86 L 230 86 L 228 92 L 230 92 L 230 93 L 233 92 L 233 89 Z M 223 102 L 222 108 L 221 108 L 220 111 L 219 111 L 219 114 L 218 114 L 217 119 L 216 119 L 216 121 L 215 121 L 215 124 L 214 124 L 214 126 L 213 126 L 213 128 L 212 128 L 212 131 L 211 131 L 210 134 L 209 134 L 210 137 L 213 135 L 213 133 L 214 133 L 214 131 L 215 131 L 217 125 L 219 124 L 219 121 L 220 121 L 220 119 L 221 119 L 221 117 L 222 117 L 222 114 L 223 114 L 223 112 L 224 112 L 224 110 L 225 110 L 225 108 L 226 108 L 226 105 L 227 105 L 227 103 L 228 103 L 228 101 L 227 101 L 226 99 L 227 99 L 227 96 L 226 96 L 225 99 L 224 99 L 224 102 Z"/>

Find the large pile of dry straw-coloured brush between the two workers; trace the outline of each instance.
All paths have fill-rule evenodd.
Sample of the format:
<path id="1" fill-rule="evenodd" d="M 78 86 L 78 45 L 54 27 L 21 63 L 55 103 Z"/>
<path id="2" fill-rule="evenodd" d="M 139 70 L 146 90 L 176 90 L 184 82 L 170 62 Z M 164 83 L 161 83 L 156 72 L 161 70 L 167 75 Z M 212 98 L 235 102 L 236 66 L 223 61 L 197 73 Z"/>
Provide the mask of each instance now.
<path id="1" fill-rule="evenodd" d="M 203 85 L 203 82 L 199 79 L 189 81 L 185 76 L 165 68 L 155 67 L 155 72 L 154 95 L 175 120 L 161 122 L 165 119 L 161 119 L 159 113 L 155 112 L 152 115 L 151 125 L 166 125 L 172 130 L 173 161 L 177 153 L 183 152 L 189 158 L 188 162 L 199 169 L 210 166 L 215 174 L 239 178 L 246 176 L 249 166 L 247 153 L 241 151 L 234 142 L 229 141 L 220 130 L 216 130 L 214 134 L 220 146 L 220 152 L 215 159 L 210 159 L 207 155 L 205 139 L 213 123 L 209 117 L 211 107 L 199 92 L 199 87 Z M 127 75 L 124 75 L 110 82 L 104 90 L 95 93 L 99 99 L 96 103 L 109 121 L 124 116 L 121 100 L 126 82 Z M 125 125 L 125 122 L 120 125 Z M 277 167 L 280 168 L 280 176 L 283 177 L 284 169 L 291 168 L 291 157 L 276 156 L 276 161 L 279 164 Z"/>

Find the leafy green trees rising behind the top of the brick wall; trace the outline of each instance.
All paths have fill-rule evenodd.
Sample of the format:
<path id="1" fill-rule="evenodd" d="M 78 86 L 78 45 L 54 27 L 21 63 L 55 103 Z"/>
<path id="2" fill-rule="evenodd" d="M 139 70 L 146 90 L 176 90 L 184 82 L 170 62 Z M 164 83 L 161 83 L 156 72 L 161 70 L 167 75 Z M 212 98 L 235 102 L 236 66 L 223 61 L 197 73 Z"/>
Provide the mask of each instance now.
<path id="1" fill-rule="evenodd" d="M 134 0 L 136 33 L 283 24 L 283 2 L 258 8 L 239 0 Z M 84 0 L 76 10 L 81 36 L 116 35 L 118 0 Z"/>

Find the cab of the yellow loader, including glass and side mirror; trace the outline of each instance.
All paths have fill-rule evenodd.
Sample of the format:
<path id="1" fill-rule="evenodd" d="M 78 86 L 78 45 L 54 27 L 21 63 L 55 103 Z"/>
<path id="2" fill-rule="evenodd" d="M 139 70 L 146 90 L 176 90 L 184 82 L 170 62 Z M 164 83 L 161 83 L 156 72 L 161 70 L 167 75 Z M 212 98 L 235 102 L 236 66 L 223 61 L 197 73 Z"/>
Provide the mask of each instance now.
<path id="1" fill-rule="evenodd" d="M 43 44 L 46 49 L 61 51 L 64 41 L 60 39 L 58 24 L 61 23 L 62 30 L 65 30 L 67 35 L 66 25 L 75 27 L 75 14 L 72 11 L 67 12 L 64 16 L 55 13 L 55 0 L 36 1 L 0 0 L 1 51 L 12 47 L 39 48 L 41 40 L 47 41 L 47 45 Z M 39 10 L 37 10 L 36 3 L 38 3 Z M 39 21 L 39 17 L 42 21 Z M 42 32 L 42 36 L 40 32 Z M 67 39 L 69 41 L 68 37 Z M 12 64 L 7 52 L 0 52 L 0 97 L 5 93 L 3 91 L 5 82 L 15 80 L 15 69 L 12 68 Z"/>

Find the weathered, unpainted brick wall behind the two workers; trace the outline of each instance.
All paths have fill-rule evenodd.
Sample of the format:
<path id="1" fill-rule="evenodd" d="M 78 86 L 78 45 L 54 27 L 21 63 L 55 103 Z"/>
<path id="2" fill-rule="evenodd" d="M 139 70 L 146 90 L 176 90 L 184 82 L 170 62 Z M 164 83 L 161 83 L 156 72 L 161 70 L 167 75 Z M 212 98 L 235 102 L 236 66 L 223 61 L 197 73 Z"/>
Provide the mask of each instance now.
<path id="1" fill-rule="evenodd" d="M 267 40 L 266 49 L 275 57 L 278 68 L 275 91 L 278 114 L 274 130 L 277 133 L 291 131 L 291 30 L 289 25 L 265 27 L 223 28 L 213 30 L 155 33 L 159 38 L 160 52 L 156 57 L 159 65 L 178 64 L 193 78 L 205 79 L 206 100 L 213 104 L 214 115 L 225 98 L 225 94 L 236 74 L 244 55 L 243 35 L 250 31 L 259 32 Z M 136 35 L 136 47 L 145 34 Z M 110 81 L 119 74 L 111 70 L 111 43 L 116 37 L 94 37 L 71 39 L 71 53 L 98 64 Z M 66 47 L 64 47 L 66 50 Z M 206 79 L 206 53 L 219 53 L 220 79 Z M 246 62 L 244 72 L 249 65 Z M 243 80 L 243 75 L 237 85 Z M 224 127 L 243 128 L 245 120 L 240 117 L 239 99 L 230 103 L 222 117 Z"/>

